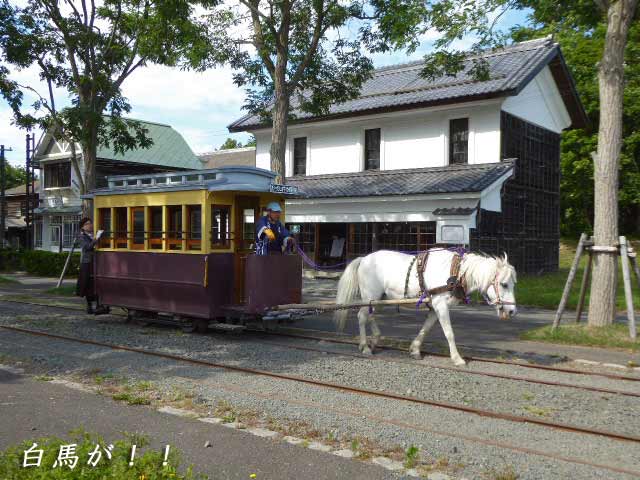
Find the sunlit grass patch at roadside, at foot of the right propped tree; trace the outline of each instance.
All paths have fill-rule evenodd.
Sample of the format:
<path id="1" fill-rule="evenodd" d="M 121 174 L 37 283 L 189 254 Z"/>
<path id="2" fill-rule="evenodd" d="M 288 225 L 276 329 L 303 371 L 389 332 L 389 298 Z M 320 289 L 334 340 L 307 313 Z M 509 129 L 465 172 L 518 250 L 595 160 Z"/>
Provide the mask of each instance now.
<path id="1" fill-rule="evenodd" d="M 520 338 L 565 345 L 640 350 L 640 340 L 631 340 L 627 325 L 621 323 L 606 327 L 590 327 L 585 323 L 568 323 L 560 325 L 555 330 L 551 325 L 546 325 L 523 332 L 520 334 Z"/>

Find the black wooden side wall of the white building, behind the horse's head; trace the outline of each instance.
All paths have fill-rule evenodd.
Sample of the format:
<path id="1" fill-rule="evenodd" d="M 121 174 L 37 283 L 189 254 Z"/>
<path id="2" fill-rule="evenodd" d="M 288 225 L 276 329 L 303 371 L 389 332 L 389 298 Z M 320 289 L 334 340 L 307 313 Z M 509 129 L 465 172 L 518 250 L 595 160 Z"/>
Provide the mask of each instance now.
<path id="1" fill-rule="evenodd" d="M 501 158 L 515 158 L 502 213 L 480 210 L 471 249 L 509 255 L 518 272 L 558 269 L 560 135 L 502 112 Z"/>

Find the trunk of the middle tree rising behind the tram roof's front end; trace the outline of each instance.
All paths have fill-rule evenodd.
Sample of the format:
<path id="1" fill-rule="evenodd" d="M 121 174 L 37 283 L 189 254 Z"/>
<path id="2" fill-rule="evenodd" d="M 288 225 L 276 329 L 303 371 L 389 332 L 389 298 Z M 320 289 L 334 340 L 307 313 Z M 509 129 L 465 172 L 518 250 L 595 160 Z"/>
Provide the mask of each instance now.
<path id="1" fill-rule="evenodd" d="M 273 106 L 271 130 L 271 171 L 276 174 L 276 183 L 285 183 L 287 123 L 289 118 L 289 92 L 285 79 L 286 60 L 278 58 L 274 78 L 275 104 Z"/>

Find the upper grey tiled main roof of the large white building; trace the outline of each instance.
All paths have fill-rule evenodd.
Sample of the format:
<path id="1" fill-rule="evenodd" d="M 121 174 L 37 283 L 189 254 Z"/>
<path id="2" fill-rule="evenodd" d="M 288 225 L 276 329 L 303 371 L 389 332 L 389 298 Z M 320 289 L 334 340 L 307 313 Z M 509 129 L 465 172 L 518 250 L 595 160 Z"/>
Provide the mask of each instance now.
<path id="1" fill-rule="evenodd" d="M 443 76 L 426 80 L 420 76 L 422 61 L 377 69 L 373 77 L 362 86 L 359 98 L 332 105 L 329 114 L 323 117 L 314 117 L 296 109 L 298 102 L 294 96 L 291 98 L 291 106 L 296 120 L 292 123 L 517 95 L 548 64 L 556 81 L 567 87 L 561 89 L 561 92 L 574 126 L 580 126 L 585 120 L 584 110 L 560 48 L 550 38 L 516 43 L 489 51 L 483 57 L 489 64 L 490 79 L 487 81 L 474 80 L 466 73 L 468 68 L 455 77 Z M 469 57 L 467 67 L 471 62 L 472 57 Z M 261 122 L 257 115 L 248 114 L 229 125 L 229 130 L 243 131 L 258 126 L 268 125 Z"/>

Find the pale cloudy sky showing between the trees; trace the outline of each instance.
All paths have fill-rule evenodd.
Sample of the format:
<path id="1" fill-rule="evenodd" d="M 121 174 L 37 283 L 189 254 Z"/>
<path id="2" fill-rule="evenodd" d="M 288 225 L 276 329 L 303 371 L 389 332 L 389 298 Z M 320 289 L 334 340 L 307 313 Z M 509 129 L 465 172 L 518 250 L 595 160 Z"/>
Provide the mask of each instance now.
<path id="1" fill-rule="evenodd" d="M 525 21 L 525 12 L 508 12 L 499 25 L 506 29 Z M 427 32 L 420 47 L 410 55 L 398 51 L 373 56 L 375 67 L 419 60 L 432 48 L 436 35 Z M 456 47 L 465 48 L 472 42 L 472 38 L 464 38 Z M 233 84 L 232 73 L 230 68 L 203 73 L 158 65 L 138 69 L 123 85 L 123 93 L 132 107 L 128 116 L 171 125 L 196 154 L 217 149 L 227 137 L 244 142 L 249 138 L 246 133 L 230 134 L 227 130 L 227 125 L 246 113 L 242 109 L 245 91 Z M 13 72 L 11 78 L 44 92 L 37 69 Z M 56 98 L 58 104 L 68 102 L 64 91 L 58 91 Z M 35 96 L 25 94 L 25 99 L 25 104 L 30 104 Z M 25 134 L 11 124 L 9 107 L 0 98 L 0 144 L 13 149 L 6 153 L 13 165 L 24 165 Z M 40 133 L 36 133 L 36 141 L 39 137 Z"/>

